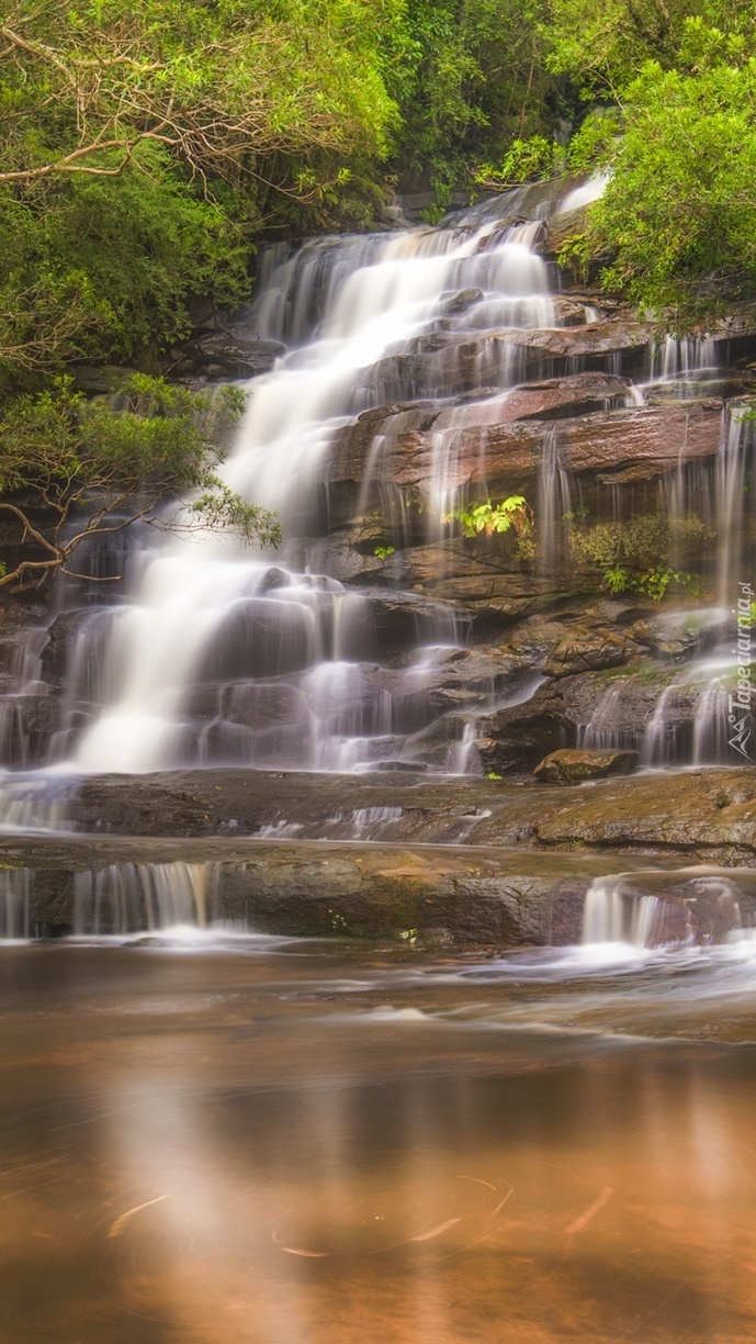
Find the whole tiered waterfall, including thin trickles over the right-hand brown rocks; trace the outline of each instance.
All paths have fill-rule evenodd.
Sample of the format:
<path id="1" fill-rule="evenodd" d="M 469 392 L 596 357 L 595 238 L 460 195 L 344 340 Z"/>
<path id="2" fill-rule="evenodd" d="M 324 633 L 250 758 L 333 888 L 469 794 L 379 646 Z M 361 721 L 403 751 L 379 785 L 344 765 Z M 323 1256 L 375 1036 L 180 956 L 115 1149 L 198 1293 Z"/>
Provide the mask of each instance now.
<path id="1" fill-rule="evenodd" d="M 602 187 L 577 187 L 577 196 L 556 184 L 518 188 L 435 230 L 314 239 L 293 254 L 270 249 L 248 327 L 287 351 L 250 382 L 223 476 L 279 512 L 285 546 L 271 556 L 211 535 L 153 546 L 134 534 L 124 597 L 99 605 L 107 591 L 63 589 L 63 638 L 51 653 L 46 632 L 31 632 L 13 664 L 16 694 L 0 694 L 4 763 L 75 773 L 214 765 L 479 773 L 481 718 L 540 684 L 536 661 L 514 680 L 486 687 L 478 679 L 438 694 L 443 660 L 481 641 L 475 613 L 453 605 L 444 547 L 455 535 L 450 515 L 500 488 L 490 480 L 497 434 L 500 457 L 504 442 L 522 464 L 506 488 L 520 489 L 524 473 L 536 515 L 521 606 L 544 591 L 544 610 L 559 609 L 568 595 L 576 520 L 623 524 L 661 512 L 673 569 L 689 563 L 686 528 L 698 519 L 701 547 L 710 547 L 701 581 L 716 587 L 706 599 L 720 602 L 710 626 L 726 625 L 737 582 L 751 578 L 755 435 L 733 402 L 722 411 L 718 454 L 701 453 L 700 394 L 721 372 L 716 340 L 657 345 L 646 327 L 639 353 L 585 296 L 557 293 L 556 270 L 541 255 L 544 220 Z M 572 341 L 571 329 L 589 328 L 583 345 Z M 594 378 L 596 368 L 614 372 Z M 636 414 L 643 433 L 642 418 L 667 405 L 677 414 L 673 453 L 662 444 L 665 469 L 651 473 L 651 485 L 636 464 L 623 468 L 616 442 L 606 470 L 599 453 L 585 472 L 594 411 L 600 438 L 615 411 Z M 581 417 L 587 456 L 580 439 L 575 448 Z M 418 560 L 423 548 L 431 558 Z M 497 607 L 493 548 L 491 556 L 493 620 L 502 610 L 506 625 L 509 575 Z M 482 550 L 481 558 L 485 567 Z M 106 558 L 109 574 L 113 563 Z M 408 577 L 412 564 L 418 573 Z M 579 724 L 579 743 L 631 746 L 651 767 L 732 763 L 732 644 L 729 628 L 701 638 L 700 656 L 661 677 L 655 698 L 624 723 L 626 687 L 607 687 Z M 495 661 L 495 649 L 489 656 Z M 682 702 L 693 710 L 681 726 Z M 444 732 L 436 732 L 439 718 Z M 4 821 L 44 825 L 46 806 L 56 806 L 46 789 L 19 784 L 4 800 Z"/>

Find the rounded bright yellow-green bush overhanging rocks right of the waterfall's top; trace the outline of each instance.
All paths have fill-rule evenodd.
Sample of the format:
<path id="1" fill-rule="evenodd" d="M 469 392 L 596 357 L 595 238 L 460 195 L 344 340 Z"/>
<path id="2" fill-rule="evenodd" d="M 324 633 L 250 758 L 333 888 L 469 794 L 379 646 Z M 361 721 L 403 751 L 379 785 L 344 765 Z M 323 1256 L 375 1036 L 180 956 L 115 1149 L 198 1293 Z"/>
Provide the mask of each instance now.
<path id="1" fill-rule="evenodd" d="M 594 230 L 604 285 L 692 320 L 756 293 L 756 60 L 683 75 L 645 67 Z"/>

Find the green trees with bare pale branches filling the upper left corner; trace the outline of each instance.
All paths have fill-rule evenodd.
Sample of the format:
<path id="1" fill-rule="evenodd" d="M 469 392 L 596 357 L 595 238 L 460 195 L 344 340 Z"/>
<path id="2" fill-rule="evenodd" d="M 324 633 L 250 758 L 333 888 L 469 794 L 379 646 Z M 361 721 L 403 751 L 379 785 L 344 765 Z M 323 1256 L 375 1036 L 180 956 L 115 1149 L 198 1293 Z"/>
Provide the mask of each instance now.
<path id="1" fill-rule="evenodd" d="M 197 296 L 244 300 L 271 183 L 310 220 L 375 206 L 403 17 L 403 0 L 8 0 L 0 388 L 149 362 Z"/>

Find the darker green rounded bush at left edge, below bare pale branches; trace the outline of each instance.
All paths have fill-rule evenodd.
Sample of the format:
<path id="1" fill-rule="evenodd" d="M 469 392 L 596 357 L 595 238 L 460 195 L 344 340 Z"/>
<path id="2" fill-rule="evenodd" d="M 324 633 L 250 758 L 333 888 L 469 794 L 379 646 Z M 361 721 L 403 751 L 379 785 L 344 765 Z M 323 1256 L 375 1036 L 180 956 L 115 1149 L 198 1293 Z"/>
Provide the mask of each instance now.
<path id="1" fill-rule="evenodd" d="M 250 288 L 242 231 L 152 144 L 117 177 L 82 175 L 23 199 L 0 190 L 0 241 L 9 245 L 0 261 L 7 383 L 63 359 L 165 348 L 188 335 L 196 294 L 240 302 Z"/>

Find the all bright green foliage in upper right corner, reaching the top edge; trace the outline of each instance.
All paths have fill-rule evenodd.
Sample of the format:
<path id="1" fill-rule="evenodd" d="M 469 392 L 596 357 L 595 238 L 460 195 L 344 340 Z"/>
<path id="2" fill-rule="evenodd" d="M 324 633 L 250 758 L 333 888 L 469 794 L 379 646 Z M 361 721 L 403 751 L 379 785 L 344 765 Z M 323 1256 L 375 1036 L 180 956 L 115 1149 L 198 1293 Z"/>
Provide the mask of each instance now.
<path id="1" fill-rule="evenodd" d="M 585 24 L 575 23 L 580 11 Z M 718 0 L 556 0 L 552 69 L 610 97 L 571 144 L 611 169 L 561 261 L 677 331 L 756 294 L 756 38 L 752 7 Z"/>

